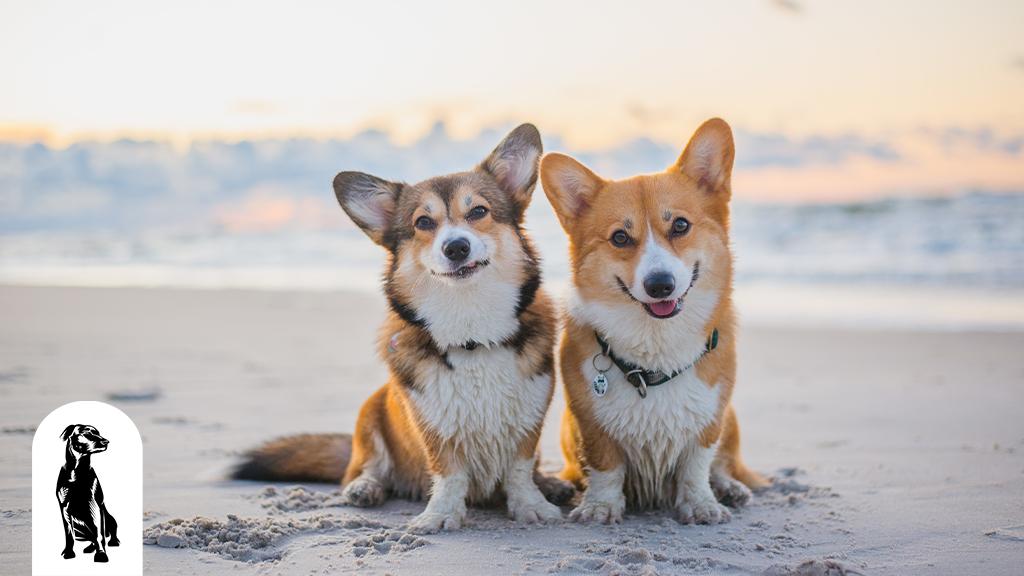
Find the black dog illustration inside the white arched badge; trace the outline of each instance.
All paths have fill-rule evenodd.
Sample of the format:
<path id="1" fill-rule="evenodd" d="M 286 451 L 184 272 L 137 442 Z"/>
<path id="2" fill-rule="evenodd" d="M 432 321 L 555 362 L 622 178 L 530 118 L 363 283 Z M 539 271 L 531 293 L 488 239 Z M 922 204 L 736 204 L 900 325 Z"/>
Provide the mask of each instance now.
<path id="1" fill-rule="evenodd" d="M 57 502 L 65 523 L 61 556 L 75 558 L 75 540 L 90 542 L 82 550 L 96 552 L 94 562 L 106 562 L 106 546 L 121 544 L 118 523 L 106 511 L 103 489 L 92 469 L 92 455 L 106 450 L 110 442 L 88 424 L 72 424 L 60 433 L 67 443 L 65 465 L 57 477 Z"/>

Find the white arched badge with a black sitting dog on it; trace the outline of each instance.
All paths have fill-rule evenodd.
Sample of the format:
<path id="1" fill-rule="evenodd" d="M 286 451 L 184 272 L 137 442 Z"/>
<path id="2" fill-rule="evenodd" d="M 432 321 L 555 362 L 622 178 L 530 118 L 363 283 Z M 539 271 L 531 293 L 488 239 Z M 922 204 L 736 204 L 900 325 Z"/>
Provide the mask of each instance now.
<path id="1" fill-rule="evenodd" d="M 32 573 L 142 573 L 142 441 L 117 408 L 74 402 L 36 428 Z"/>

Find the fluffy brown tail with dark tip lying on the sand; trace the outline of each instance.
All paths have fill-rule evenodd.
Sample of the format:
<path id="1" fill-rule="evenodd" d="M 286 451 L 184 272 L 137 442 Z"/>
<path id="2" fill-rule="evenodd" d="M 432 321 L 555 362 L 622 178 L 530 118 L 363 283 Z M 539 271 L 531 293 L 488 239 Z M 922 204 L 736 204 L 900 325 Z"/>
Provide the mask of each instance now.
<path id="1" fill-rule="evenodd" d="M 347 434 L 304 434 L 247 452 L 231 472 L 236 480 L 340 483 L 352 455 Z"/>

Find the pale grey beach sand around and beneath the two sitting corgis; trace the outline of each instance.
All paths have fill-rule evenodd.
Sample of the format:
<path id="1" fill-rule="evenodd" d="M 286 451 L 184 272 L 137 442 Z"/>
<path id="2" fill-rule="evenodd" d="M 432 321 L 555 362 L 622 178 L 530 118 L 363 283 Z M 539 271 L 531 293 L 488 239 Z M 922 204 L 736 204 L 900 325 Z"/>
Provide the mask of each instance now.
<path id="1" fill-rule="evenodd" d="M 356 292 L 0 286 L 0 567 L 31 571 L 30 455 L 53 408 L 102 400 L 144 446 L 148 574 L 1020 574 L 1024 334 L 748 327 L 735 406 L 774 488 L 726 525 L 634 512 L 522 526 L 423 503 L 338 505 L 337 487 L 222 480 L 241 451 L 351 431 L 385 378 L 383 311 Z M 111 400 L 117 399 L 117 400 Z M 544 466 L 558 469 L 549 413 Z"/>

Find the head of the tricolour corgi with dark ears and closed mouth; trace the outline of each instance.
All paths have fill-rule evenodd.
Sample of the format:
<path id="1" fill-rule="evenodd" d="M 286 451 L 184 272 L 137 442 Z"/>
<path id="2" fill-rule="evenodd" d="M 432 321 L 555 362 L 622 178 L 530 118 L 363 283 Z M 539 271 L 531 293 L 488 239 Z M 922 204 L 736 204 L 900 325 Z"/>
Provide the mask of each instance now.
<path id="1" fill-rule="evenodd" d="M 400 317 L 425 321 L 438 341 L 503 337 L 504 328 L 471 326 L 473 315 L 508 316 L 521 287 L 540 283 L 520 224 L 542 152 L 540 132 L 523 124 L 466 172 L 415 184 L 362 172 L 334 178 L 341 207 L 390 253 L 385 289 Z"/>

